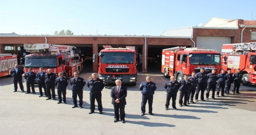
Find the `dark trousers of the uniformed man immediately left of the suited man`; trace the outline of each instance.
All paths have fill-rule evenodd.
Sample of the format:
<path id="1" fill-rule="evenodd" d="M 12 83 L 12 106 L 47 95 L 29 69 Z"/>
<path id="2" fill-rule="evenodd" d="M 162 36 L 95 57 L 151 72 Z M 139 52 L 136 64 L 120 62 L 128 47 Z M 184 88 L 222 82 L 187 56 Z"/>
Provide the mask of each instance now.
<path id="1" fill-rule="evenodd" d="M 102 102 L 101 102 L 101 92 L 99 92 L 99 93 L 90 92 L 90 104 L 91 104 L 90 109 L 91 109 L 91 111 L 95 110 L 95 99 L 97 100 L 97 103 L 98 103 L 98 110 L 102 111 L 103 108 L 102 108 Z"/>

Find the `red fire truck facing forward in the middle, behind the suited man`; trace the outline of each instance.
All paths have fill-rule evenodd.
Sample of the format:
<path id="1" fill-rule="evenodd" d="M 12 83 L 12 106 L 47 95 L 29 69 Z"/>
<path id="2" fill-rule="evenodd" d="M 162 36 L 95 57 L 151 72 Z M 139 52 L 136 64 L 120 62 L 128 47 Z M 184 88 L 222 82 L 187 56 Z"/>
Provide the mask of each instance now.
<path id="1" fill-rule="evenodd" d="M 120 79 L 122 83 L 136 85 L 137 68 L 136 68 L 136 51 L 134 46 L 126 48 L 112 48 L 103 46 L 104 49 L 99 53 L 99 74 L 98 77 L 105 83 L 115 83 Z M 93 54 L 95 62 L 96 54 Z M 142 63 L 142 55 L 139 55 Z"/>

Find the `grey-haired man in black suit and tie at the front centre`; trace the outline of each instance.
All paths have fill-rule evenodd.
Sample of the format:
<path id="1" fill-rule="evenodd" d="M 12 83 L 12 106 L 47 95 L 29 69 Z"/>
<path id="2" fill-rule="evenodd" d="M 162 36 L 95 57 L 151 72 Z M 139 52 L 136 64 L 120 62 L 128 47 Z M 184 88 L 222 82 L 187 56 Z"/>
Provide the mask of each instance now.
<path id="1" fill-rule="evenodd" d="M 126 96 L 127 96 L 127 88 L 121 86 L 121 80 L 116 80 L 116 86 L 111 88 L 111 98 L 112 105 L 114 105 L 115 112 L 115 120 L 114 122 L 118 122 L 119 120 L 119 110 L 120 110 L 120 119 L 122 123 L 125 123 L 125 105 L 126 105 Z"/>

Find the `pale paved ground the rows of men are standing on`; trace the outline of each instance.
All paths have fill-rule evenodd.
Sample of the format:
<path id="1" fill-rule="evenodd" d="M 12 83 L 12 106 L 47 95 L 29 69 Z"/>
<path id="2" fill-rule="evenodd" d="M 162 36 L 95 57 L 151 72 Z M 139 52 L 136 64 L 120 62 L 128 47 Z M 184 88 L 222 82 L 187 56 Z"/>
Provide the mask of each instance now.
<path id="1" fill-rule="evenodd" d="M 91 73 L 81 73 L 85 80 Z M 140 82 L 151 76 L 157 84 L 153 101 L 153 113 L 141 116 L 142 95 Z M 1 135 L 254 135 L 256 133 L 256 87 L 241 85 L 240 95 L 228 95 L 216 100 L 198 101 L 189 106 L 176 106 L 178 110 L 164 110 L 166 92 L 164 83 L 168 81 L 162 74 L 138 74 L 137 86 L 125 85 L 128 88 L 127 105 L 125 106 L 126 123 L 114 123 L 114 109 L 111 105 L 110 91 L 112 84 L 102 91 L 103 114 L 97 110 L 90 111 L 89 91 L 84 87 L 83 108 L 71 108 L 73 99 L 71 86 L 67 87 L 67 104 L 57 104 L 55 100 L 45 100 L 36 94 L 13 93 L 12 78 L 0 78 L 0 134 Z M 23 83 L 26 89 L 26 83 Z M 231 87 L 231 89 L 233 86 Z M 18 89 L 20 91 L 20 89 Z M 55 90 L 57 93 L 57 90 Z M 205 92 L 206 93 L 206 92 Z M 211 94 L 211 93 L 210 93 Z M 179 93 L 178 93 L 179 95 Z"/>

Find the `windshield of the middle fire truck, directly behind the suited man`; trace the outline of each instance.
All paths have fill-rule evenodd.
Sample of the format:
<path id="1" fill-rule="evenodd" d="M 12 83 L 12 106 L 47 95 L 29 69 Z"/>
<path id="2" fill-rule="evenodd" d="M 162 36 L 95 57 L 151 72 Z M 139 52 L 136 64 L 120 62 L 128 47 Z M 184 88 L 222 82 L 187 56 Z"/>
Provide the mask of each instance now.
<path id="1" fill-rule="evenodd" d="M 102 52 L 100 56 L 100 62 L 106 64 L 132 64 L 134 61 L 133 52 Z"/>

